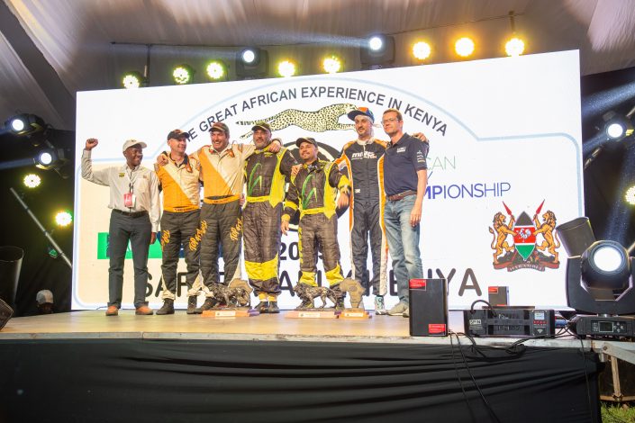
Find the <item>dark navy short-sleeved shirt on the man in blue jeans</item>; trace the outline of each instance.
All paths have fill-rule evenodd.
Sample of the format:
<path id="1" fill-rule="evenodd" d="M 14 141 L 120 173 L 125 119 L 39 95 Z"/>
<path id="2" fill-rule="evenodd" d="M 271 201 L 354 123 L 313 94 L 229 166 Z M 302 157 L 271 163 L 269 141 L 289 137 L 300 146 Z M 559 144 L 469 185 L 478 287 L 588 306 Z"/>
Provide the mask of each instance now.
<path id="1" fill-rule="evenodd" d="M 386 148 L 384 155 L 384 190 L 386 195 L 416 191 L 417 171 L 428 168 L 429 144 L 407 133 Z"/>

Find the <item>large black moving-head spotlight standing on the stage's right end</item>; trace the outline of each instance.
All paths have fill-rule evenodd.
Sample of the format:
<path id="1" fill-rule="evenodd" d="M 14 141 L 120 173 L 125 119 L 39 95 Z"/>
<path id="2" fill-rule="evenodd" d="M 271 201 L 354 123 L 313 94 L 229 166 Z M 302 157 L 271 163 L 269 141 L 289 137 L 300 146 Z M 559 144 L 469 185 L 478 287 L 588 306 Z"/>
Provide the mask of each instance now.
<path id="1" fill-rule="evenodd" d="M 596 241 L 585 217 L 556 228 L 567 250 L 567 305 L 578 313 L 572 323 L 578 336 L 635 338 L 635 258 L 612 240 Z"/>

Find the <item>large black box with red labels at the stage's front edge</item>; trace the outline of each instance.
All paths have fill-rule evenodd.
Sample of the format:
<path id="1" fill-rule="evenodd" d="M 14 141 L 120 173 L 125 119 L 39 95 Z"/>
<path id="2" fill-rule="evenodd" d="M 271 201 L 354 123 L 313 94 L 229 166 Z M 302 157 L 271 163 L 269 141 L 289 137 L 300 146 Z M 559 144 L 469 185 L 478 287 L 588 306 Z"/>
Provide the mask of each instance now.
<path id="1" fill-rule="evenodd" d="M 410 335 L 448 335 L 448 280 L 410 280 Z"/>

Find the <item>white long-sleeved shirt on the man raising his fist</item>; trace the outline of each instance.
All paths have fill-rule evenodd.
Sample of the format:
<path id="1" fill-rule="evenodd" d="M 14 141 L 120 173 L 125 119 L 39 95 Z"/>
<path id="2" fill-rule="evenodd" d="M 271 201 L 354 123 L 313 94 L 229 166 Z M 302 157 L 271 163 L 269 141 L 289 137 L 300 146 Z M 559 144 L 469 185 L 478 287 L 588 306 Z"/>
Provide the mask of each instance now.
<path id="1" fill-rule="evenodd" d="M 157 174 L 146 167 L 134 169 L 124 166 L 106 167 L 93 171 L 90 150 L 84 149 L 82 154 L 82 177 L 95 184 L 110 186 L 110 203 L 108 207 L 121 211 L 148 211 L 152 231 L 159 230 L 160 204 L 159 179 Z M 126 207 L 123 194 L 133 193 L 136 197 L 134 207 Z"/>

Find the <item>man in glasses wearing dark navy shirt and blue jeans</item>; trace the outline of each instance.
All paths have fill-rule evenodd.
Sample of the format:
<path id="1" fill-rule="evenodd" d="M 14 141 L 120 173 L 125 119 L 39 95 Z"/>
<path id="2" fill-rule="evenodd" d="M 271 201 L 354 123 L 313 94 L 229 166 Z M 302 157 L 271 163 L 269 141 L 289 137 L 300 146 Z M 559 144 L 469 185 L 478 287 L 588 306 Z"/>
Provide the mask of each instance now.
<path id="1" fill-rule="evenodd" d="M 407 317 L 409 282 L 423 277 L 419 223 L 428 184 L 429 144 L 426 139 L 422 141 L 404 133 L 404 118 L 396 109 L 387 109 L 381 123 L 390 137 L 384 156 L 384 223 L 399 296 L 399 302 L 388 314 Z"/>

